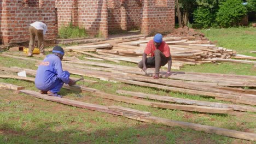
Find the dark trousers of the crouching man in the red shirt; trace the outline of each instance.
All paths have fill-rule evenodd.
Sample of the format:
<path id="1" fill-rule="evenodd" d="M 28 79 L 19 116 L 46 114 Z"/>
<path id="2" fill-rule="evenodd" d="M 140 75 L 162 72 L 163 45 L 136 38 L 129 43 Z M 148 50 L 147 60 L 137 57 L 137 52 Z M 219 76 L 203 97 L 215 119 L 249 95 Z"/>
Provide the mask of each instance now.
<path id="1" fill-rule="evenodd" d="M 161 66 L 164 66 L 167 63 L 167 58 L 165 57 L 164 53 L 160 50 L 155 50 L 155 56 L 149 57 L 146 59 L 146 67 L 147 68 L 155 68 L 155 73 L 159 74 L 159 69 Z M 139 68 L 143 68 L 143 61 L 138 63 Z"/>

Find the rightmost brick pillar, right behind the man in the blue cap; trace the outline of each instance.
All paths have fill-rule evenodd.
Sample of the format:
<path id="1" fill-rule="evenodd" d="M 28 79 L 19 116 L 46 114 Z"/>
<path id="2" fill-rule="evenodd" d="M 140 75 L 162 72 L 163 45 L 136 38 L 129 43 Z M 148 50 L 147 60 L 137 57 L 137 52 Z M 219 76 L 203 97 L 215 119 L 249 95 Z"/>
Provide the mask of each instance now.
<path id="1" fill-rule="evenodd" d="M 144 0 L 141 32 L 166 33 L 174 28 L 174 0 Z"/>

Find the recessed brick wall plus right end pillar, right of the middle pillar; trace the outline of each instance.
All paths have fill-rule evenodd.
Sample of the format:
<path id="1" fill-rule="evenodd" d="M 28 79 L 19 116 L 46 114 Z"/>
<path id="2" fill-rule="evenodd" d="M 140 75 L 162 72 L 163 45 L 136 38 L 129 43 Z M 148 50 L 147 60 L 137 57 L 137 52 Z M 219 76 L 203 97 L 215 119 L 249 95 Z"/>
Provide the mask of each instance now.
<path id="1" fill-rule="evenodd" d="M 174 28 L 174 0 L 108 0 L 108 29 L 144 34 L 167 33 Z"/>

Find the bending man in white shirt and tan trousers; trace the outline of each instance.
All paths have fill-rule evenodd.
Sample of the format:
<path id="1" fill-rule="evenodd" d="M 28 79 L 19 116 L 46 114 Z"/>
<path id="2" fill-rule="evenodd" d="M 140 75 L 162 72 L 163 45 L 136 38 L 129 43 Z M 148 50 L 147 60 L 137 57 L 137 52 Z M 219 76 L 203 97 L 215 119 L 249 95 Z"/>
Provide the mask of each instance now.
<path id="1" fill-rule="evenodd" d="M 44 55 L 44 34 L 47 31 L 47 26 L 45 23 L 36 21 L 34 23 L 31 23 L 30 28 L 28 31 L 30 32 L 30 45 L 29 45 L 29 50 L 28 50 L 28 56 L 33 55 L 33 50 L 34 50 L 34 39 L 37 36 L 38 40 L 38 48 L 40 49 L 40 55 Z"/>

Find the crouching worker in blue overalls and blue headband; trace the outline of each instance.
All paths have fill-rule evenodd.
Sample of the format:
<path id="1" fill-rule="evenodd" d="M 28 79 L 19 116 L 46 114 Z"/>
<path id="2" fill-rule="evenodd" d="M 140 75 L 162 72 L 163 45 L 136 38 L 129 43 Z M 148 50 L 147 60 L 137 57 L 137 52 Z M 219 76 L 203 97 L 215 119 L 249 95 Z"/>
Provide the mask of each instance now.
<path id="1" fill-rule="evenodd" d="M 60 92 L 64 83 L 72 86 L 75 84 L 74 80 L 69 79 L 69 72 L 62 70 L 62 59 L 64 56 L 64 50 L 60 46 L 53 48 L 53 54 L 46 56 L 43 62 L 40 63 L 36 80 L 34 83 L 42 94 L 48 94 L 49 96 L 62 97 L 57 94 Z"/>

